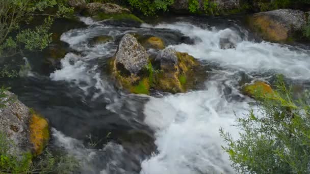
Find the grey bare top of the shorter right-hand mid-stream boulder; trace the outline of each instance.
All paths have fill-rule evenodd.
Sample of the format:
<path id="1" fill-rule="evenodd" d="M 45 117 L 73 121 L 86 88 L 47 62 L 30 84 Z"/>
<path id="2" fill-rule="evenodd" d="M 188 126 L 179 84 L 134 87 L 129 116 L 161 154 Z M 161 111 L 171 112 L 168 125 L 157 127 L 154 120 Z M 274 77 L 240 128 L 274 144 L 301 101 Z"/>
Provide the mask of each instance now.
<path id="1" fill-rule="evenodd" d="M 163 49 L 156 57 L 156 62 L 160 63 L 161 69 L 174 69 L 177 65 L 176 51 L 172 48 Z"/>

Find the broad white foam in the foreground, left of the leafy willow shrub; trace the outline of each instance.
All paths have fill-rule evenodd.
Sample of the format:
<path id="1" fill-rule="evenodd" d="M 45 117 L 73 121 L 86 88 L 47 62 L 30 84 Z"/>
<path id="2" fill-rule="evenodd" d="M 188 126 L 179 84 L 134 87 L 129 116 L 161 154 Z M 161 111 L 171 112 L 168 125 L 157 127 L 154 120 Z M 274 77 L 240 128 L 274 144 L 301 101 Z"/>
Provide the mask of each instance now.
<path id="1" fill-rule="evenodd" d="M 233 133 L 235 113 L 247 113 L 247 102 L 227 102 L 217 82 L 207 91 L 151 98 L 145 123 L 156 130 L 159 154 L 142 162 L 141 174 L 233 173 L 221 150 L 220 127 Z"/>

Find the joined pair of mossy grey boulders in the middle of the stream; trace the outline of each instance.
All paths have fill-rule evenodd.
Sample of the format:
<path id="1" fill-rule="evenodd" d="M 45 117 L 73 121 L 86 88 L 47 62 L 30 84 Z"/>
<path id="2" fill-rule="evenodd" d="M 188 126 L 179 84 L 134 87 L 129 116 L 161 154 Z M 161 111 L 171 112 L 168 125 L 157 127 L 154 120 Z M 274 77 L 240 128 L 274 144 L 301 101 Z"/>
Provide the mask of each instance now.
<path id="1" fill-rule="evenodd" d="M 162 50 L 151 61 L 138 40 L 126 34 L 111 59 L 113 77 L 122 88 L 134 94 L 150 94 L 150 89 L 163 92 L 186 92 L 194 85 L 193 69 L 199 64 L 188 53 L 171 48 Z"/>

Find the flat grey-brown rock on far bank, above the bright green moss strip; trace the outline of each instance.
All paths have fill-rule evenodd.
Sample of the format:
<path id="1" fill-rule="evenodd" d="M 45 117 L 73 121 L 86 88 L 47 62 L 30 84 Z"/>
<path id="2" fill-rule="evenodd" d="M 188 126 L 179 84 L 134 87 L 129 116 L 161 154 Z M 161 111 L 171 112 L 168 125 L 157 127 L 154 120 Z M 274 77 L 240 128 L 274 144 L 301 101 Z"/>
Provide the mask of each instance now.
<path id="1" fill-rule="evenodd" d="M 89 3 L 86 6 L 86 13 L 90 16 L 97 15 L 98 13 L 104 13 L 104 14 L 131 14 L 131 11 L 120 7 L 116 4 L 101 4 L 101 3 Z"/>

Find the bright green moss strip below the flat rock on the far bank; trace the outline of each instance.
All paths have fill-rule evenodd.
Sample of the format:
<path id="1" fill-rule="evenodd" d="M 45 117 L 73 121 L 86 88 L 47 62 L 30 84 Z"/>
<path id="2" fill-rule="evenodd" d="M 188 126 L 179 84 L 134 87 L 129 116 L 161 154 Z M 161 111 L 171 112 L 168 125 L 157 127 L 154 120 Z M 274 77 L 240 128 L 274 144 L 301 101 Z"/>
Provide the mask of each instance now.
<path id="1" fill-rule="evenodd" d="M 96 20 L 106 20 L 106 19 L 114 19 L 114 20 L 133 20 L 140 23 L 143 23 L 143 20 L 138 18 L 133 14 L 106 14 L 106 13 L 98 13 L 98 15 L 94 16 Z"/>

